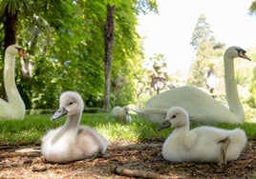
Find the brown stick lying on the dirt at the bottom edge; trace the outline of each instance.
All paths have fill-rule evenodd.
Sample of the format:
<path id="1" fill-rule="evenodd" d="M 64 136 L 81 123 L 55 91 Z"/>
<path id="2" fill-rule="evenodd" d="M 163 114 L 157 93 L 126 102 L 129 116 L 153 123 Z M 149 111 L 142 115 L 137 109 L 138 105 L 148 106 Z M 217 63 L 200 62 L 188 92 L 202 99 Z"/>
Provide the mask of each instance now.
<path id="1" fill-rule="evenodd" d="M 131 177 L 143 177 L 143 178 L 150 178 L 150 179 L 169 179 L 171 178 L 168 175 L 162 175 L 156 172 L 150 172 L 140 169 L 125 169 L 122 167 L 112 166 L 111 172 L 118 174 L 118 175 L 126 175 Z"/>

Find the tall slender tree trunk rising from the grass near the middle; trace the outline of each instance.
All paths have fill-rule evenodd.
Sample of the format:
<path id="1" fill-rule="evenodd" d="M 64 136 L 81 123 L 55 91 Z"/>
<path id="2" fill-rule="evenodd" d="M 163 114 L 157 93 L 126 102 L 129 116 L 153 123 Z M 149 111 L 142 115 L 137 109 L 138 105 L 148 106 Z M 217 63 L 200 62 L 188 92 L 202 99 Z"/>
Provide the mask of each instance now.
<path id="1" fill-rule="evenodd" d="M 109 110 L 110 102 L 110 79 L 111 79 L 111 64 L 112 64 L 112 48 L 114 43 L 114 13 L 116 7 L 107 5 L 107 19 L 104 27 L 105 40 L 105 101 L 104 108 Z"/>

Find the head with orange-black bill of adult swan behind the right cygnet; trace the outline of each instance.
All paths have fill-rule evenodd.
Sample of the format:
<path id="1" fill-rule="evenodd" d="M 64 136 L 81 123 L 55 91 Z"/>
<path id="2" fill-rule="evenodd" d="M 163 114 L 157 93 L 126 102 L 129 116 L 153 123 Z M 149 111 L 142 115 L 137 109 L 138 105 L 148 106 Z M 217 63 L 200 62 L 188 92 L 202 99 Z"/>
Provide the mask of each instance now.
<path id="1" fill-rule="evenodd" d="M 234 59 L 237 57 L 245 58 L 250 61 L 250 58 L 245 55 L 246 51 L 240 47 L 230 47 L 224 52 L 224 56 L 229 59 Z"/>

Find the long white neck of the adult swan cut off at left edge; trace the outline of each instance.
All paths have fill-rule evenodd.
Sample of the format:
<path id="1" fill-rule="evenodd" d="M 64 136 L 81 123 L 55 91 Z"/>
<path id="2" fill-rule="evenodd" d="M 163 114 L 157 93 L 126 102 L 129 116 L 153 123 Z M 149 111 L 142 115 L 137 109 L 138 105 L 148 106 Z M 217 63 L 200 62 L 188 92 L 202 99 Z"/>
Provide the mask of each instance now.
<path id="1" fill-rule="evenodd" d="M 15 84 L 15 56 L 5 54 L 4 82 L 9 104 L 15 110 L 25 110 L 24 102 Z"/>

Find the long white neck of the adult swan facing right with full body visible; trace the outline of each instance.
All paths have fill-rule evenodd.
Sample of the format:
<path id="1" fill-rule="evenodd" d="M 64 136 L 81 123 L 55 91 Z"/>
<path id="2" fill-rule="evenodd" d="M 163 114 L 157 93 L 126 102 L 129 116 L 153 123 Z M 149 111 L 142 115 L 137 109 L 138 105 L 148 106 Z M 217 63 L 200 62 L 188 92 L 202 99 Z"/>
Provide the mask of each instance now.
<path id="1" fill-rule="evenodd" d="M 245 119 L 245 112 L 240 102 L 234 72 L 234 59 L 224 54 L 225 95 L 229 110 L 240 119 Z"/>

